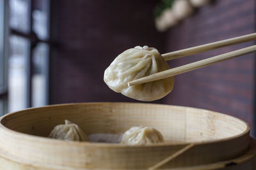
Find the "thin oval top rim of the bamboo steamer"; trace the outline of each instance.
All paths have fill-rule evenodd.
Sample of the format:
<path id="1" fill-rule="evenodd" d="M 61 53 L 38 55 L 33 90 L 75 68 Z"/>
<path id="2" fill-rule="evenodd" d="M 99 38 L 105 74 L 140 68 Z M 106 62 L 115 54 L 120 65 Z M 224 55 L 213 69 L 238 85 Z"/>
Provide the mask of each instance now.
<path id="1" fill-rule="evenodd" d="M 52 104 L 52 105 L 48 105 L 48 106 L 42 106 L 42 107 L 38 107 L 38 108 L 51 108 L 51 107 L 58 107 L 58 106 L 78 106 L 78 105 L 92 105 L 92 104 L 148 104 L 148 105 L 160 105 L 160 106 L 175 106 L 175 105 L 169 105 L 169 104 L 155 104 L 155 103 L 122 103 L 122 102 L 99 102 L 99 103 L 67 103 L 67 104 Z M 183 108 L 184 106 L 175 106 L 177 108 Z M 26 111 L 26 110 L 36 110 L 38 108 L 27 108 L 21 111 Z M 187 107 L 186 108 L 192 108 L 192 107 Z M 201 108 L 193 108 L 193 109 L 197 109 L 197 110 L 202 110 L 202 111 L 211 111 L 211 110 L 205 110 L 205 109 L 201 109 Z M 12 129 L 8 129 L 7 127 L 5 127 L 2 123 L 4 118 L 13 115 L 15 113 L 19 113 L 20 111 L 13 111 L 11 113 L 7 113 L 6 115 L 3 115 L 2 117 L 0 117 L 0 127 L 3 128 L 5 131 L 8 132 L 12 132 L 13 135 L 17 136 L 17 137 L 22 137 L 22 138 L 27 138 L 27 139 L 37 139 L 40 140 L 42 142 L 45 143 L 56 143 L 58 145 L 74 145 L 76 143 L 76 145 L 79 146 L 97 146 L 97 147 L 108 147 L 108 148 L 123 148 L 123 147 L 132 147 L 132 148 L 141 148 L 141 147 L 154 147 L 154 146 L 177 146 L 177 145 L 189 145 L 189 142 L 164 142 L 164 143 L 154 143 L 154 144 L 149 144 L 149 145 L 125 145 L 125 144 L 120 144 L 120 143 L 92 143 L 92 142 L 85 142 L 85 141 L 62 141 L 62 140 L 58 140 L 58 139 L 51 139 L 51 138 L 46 138 L 46 137 L 42 137 L 42 136 L 34 136 L 31 134 L 26 134 L 26 133 L 22 133 L 22 132 L 17 132 L 17 131 L 13 131 Z M 214 113 L 218 113 L 220 115 L 225 115 L 224 113 L 219 113 L 216 111 L 212 111 Z M 236 118 L 237 120 L 241 121 L 244 123 L 244 125 L 246 125 L 246 130 L 241 132 L 240 134 L 228 137 L 228 138 L 221 138 L 221 139 L 211 139 L 211 140 L 205 140 L 205 141 L 198 141 L 198 142 L 192 142 L 194 145 L 204 145 L 204 144 L 211 144 L 211 143 L 216 143 L 216 142 L 222 142 L 222 141 L 228 141 L 230 139 L 235 139 L 235 138 L 239 138 L 241 136 L 244 136 L 246 134 L 248 134 L 250 132 L 250 126 L 248 123 L 246 123 L 244 120 L 241 120 L 240 118 L 237 117 L 233 117 L 230 115 L 225 115 L 228 117 L 232 117 L 232 118 Z"/>

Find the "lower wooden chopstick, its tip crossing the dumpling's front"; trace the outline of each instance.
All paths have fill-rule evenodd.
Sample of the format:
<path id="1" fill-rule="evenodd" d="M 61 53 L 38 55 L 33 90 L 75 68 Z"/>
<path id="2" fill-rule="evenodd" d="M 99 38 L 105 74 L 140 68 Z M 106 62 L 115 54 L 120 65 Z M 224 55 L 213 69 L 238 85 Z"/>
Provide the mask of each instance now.
<path id="1" fill-rule="evenodd" d="M 233 52 L 223 53 L 221 55 L 217 55 L 217 56 L 211 57 L 209 59 L 199 60 L 197 62 L 192 62 L 190 64 L 175 67 L 173 69 L 168 69 L 166 71 L 161 71 L 161 72 L 156 73 L 156 74 L 151 74 L 149 76 L 145 76 L 143 78 L 139 78 L 137 80 L 130 81 L 130 82 L 128 82 L 128 85 L 129 85 L 129 87 L 131 87 L 132 85 L 139 85 L 139 84 L 147 83 L 147 82 L 150 82 L 150 81 L 156 81 L 156 80 L 160 80 L 160 79 L 163 79 L 163 78 L 168 78 L 168 77 L 171 77 L 171 76 L 186 73 L 188 71 L 193 71 L 195 69 L 199 69 L 199 68 L 202 68 L 202 67 L 205 67 L 205 66 L 210 66 L 210 65 L 215 64 L 217 62 L 232 59 L 232 58 L 239 57 L 241 55 L 246 55 L 248 53 L 253 53 L 253 52 L 256 52 L 256 45 L 248 46 L 246 48 L 242 48 L 240 50 L 236 50 L 236 51 L 233 51 Z"/>

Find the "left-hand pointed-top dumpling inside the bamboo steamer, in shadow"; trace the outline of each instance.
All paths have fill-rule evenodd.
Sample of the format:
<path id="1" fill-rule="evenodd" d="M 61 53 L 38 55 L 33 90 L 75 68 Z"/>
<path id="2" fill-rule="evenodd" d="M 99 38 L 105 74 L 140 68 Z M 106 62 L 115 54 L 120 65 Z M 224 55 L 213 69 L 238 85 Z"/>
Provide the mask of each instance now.
<path id="1" fill-rule="evenodd" d="M 69 120 L 65 120 L 64 125 L 56 125 L 51 131 L 51 134 L 49 134 L 49 138 L 65 141 L 89 141 L 82 129 Z"/>

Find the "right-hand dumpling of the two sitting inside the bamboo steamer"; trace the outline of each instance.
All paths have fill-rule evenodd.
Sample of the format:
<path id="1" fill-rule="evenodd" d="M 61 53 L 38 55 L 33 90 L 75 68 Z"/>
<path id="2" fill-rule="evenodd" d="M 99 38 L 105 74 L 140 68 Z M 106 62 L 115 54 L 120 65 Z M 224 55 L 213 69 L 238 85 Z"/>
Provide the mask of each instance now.
<path id="1" fill-rule="evenodd" d="M 148 126 L 131 127 L 124 133 L 121 143 L 127 145 L 147 145 L 164 142 L 163 135 L 156 129 Z"/>

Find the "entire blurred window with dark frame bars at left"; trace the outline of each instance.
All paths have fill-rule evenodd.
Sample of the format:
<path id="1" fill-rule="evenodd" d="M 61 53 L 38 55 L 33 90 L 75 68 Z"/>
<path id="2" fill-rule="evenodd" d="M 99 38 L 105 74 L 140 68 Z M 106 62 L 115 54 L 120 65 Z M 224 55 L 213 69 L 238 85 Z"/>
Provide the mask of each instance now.
<path id="1" fill-rule="evenodd" d="M 9 13 L 8 111 L 44 106 L 49 91 L 49 0 L 0 2 L 8 2 Z M 2 105 L 6 108 L 6 99 Z"/>

